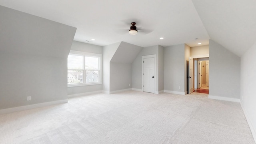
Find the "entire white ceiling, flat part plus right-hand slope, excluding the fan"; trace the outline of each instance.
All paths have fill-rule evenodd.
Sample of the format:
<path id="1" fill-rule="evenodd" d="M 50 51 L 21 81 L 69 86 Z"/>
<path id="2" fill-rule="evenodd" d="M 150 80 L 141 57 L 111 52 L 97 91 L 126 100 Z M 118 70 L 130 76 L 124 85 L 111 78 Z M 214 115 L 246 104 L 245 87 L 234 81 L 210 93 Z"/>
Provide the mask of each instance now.
<path id="1" fill-rule="evenodd" d="M 80 42 L 88 40 L 86 43 L 105 46 L 124 41 L 142 47 L 185 43 L 193 47 L 198 42 L 209 44 L 211 37 L 241 55 L 256 40 L 255 1 L 0 0 L 0 5 L 74 26 L 77 28 L 74 40 Z M 240 9 L 236 11 L 237 8 Z M 247 24 L 244 20 L 249 20 L 250 26 L 244 25 Z M 142 31 L 129 35 L 130 22 L 136 22 Z M 152 32 L 144 34 L 143 29 Z M 247 36 L 252 37 L 246 39 Z M 241 48 L 243 43 L 239 38 L 248 42 L 246 48 Z"/>

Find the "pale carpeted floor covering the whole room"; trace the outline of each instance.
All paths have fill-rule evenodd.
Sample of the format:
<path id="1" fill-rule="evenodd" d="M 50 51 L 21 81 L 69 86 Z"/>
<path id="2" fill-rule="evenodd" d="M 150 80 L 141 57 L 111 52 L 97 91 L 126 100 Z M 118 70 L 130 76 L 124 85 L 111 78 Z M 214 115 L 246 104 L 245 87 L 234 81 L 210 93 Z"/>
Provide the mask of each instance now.
<path id="1" fill-rule="evenodd" d="M 0 115 L 0 144 L 254 144 L 239 103 L 128 91 Z"/>

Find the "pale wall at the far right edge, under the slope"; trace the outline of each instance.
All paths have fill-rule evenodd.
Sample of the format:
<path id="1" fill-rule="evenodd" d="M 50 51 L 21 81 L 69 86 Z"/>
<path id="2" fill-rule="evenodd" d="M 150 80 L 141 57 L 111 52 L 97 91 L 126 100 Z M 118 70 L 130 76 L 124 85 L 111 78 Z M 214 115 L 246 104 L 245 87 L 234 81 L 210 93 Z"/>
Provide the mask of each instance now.
<path id="1" fill-rule="evenodd" d="M 241 57 L 241 104 L 256 139 L 256 43 Z"/>

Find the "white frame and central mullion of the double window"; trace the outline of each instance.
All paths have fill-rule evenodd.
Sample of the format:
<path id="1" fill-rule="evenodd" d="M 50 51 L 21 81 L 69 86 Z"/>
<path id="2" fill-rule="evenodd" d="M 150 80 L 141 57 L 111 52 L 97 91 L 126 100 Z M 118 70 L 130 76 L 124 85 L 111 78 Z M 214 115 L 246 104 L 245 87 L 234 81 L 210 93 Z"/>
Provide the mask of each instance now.
<path id="1" fill-rule="evenodd" d="M 68 84 L 68 87 L 75 87 L 75 86 L 90 86 L 90 85 L 96 85 L 96 84 L 102 84 L 102 73 L 101 73 L 101 69 L 102 69 L 102 54 L 94 54 L 94 53 L 88 53 L 88 52 L 80 52 L 80 51 L 75 51 L 75 50 L 70 50 L 69 54 L 74 54 L 74 55 L 82 55 L 83 56 L 83 83 L 81 84 Z M 86 83 L 86 70 L 85 69 L 85 56 L 89 56 L 89 57 L 97 57 L 99 58 L 99 82 L 92 82 L 92 83 Z M 68 70 L 67 70 L 68 72 Z"/>

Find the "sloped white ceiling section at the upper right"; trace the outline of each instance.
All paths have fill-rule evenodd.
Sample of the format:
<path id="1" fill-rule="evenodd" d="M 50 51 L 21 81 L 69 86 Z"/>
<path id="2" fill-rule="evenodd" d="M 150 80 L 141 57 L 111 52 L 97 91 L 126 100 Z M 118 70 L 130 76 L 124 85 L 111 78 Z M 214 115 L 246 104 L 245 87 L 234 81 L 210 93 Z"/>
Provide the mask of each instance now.
<path id="1" fill-rule="evenodd" d="M 256 0 L 192 0 L 210 38 L 242 56 L 256 42 Z"/>

